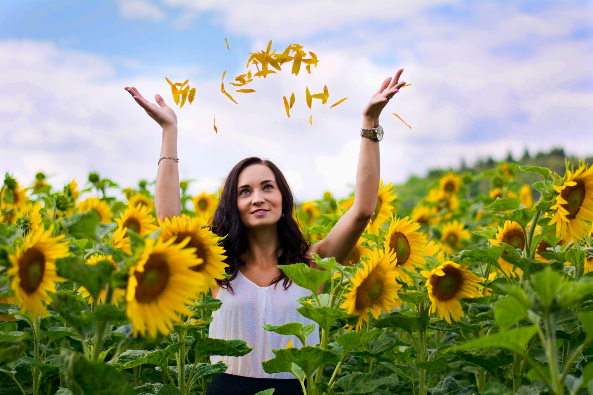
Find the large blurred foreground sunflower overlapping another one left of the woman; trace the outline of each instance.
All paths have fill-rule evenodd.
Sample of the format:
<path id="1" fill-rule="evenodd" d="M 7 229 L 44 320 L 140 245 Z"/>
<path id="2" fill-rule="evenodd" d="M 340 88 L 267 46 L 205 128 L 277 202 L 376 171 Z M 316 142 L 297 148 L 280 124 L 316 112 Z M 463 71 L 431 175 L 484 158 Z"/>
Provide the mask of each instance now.
<path id="1" fill-rule="evenodd" d="M 174 244 L 146 239 L 144 252 L 135 265 L 130 267 L 126 291 L 126 314 L 132 322 L 133 336 L 146 335 L 152 338 L 157 332 L 167 336 L 173 322 L 180 322 L 178 313 L 191 316 L 187 304 L 193 304 L 196 284 L 203 276 L 192 270 L 202 263 L 191 248 L 184 249 L 189 237 Z"/>

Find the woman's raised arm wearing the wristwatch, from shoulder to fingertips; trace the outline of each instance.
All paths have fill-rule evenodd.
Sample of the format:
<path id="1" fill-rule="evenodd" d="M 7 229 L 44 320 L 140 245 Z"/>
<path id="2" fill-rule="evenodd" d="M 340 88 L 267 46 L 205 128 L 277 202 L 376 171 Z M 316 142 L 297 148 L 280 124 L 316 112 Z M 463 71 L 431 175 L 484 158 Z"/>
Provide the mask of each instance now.
<path id="1" fill-rule="evenodd" d="M 399 82 L 403 69 L 398 70 L 394 78 L 387 78 L 366 105 L 362 112 L 362 127 L 372 129 L 379 124 L 379 115 L 401 86 Z M 356 190 L 354 203 L 350 210 L 337 221 L 327 237 L 311 246 L 309 252 L 317 253 L 321 258 L 334 256 L 337 262 L 343 262 L 356 246 L 377 205 L 379 190 L 379 142 L 361 137 L 361 150 L 356 168 Z"/>

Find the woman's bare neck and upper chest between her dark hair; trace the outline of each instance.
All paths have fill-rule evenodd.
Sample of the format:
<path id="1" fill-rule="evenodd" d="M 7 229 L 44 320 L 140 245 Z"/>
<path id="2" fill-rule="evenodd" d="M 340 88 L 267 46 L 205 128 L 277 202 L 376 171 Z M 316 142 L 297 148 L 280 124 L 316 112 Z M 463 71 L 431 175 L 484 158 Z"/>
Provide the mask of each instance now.
<path id="1" fill-rule="evenodd" d="M 278 265 L 276 250 L 280 247 L 278 225 L 256 229 L 246 229 L 249 249 L 245 253 L 245 262 L 257 266 Z"/>

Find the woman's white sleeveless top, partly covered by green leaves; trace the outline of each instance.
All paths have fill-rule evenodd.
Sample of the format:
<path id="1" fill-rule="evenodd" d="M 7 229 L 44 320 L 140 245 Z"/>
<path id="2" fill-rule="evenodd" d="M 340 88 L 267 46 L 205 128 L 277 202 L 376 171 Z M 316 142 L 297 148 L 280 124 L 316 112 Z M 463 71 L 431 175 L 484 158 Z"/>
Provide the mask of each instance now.
<path id="1" fill-rule="evenodd" d="M 243 357 L 222 357 L 212 355 L 210 361 L 215 364 L 222 361 L 229 365 L 228 374 L 259 378 L 295 378 L 288 372 L 266 373 L 262 368 L 262 361 L 274 358 L 273 348 L 285 348 L 292 338 L 292 346 L 301 347 L 297 336 L 284 336 L 269 332 L 262 326 L 283 325 L 289 322 L 300 322 L 302 325 L 315 323 L 313 320 L 301 316 L 296 310 L 302 306 L 297 298 L 309 296 L 310 290 L 299 287 L 292 282 L 288 289 L 284 289 L 283 281 L 269 287 L 260 287 L 238 271 L 237 277 L 231 281 L 235 294 L 224 288 L 219 288 L 217 299 L 222 301 L 222 307 L 212 312 L 213 322 L 210 324 L 209 337 L 216 339 L 243 339 L 247 345 L 254 347 L 253 351 Z M 307 345 L 319 343 L 319 325 L 307 337 Z"/>

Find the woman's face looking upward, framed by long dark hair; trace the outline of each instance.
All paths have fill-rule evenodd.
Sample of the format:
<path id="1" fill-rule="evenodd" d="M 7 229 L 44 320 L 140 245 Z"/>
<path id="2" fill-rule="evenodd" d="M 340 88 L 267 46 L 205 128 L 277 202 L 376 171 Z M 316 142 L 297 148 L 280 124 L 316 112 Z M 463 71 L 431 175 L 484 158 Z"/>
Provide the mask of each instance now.
<path id="1" fill-rule="evenodd" d="M 266 165 L 244 168 L 237 179 L 237 207 L 243 226 L 253 229 L 277 223 L 282 216 L 282 194 Z"/>

